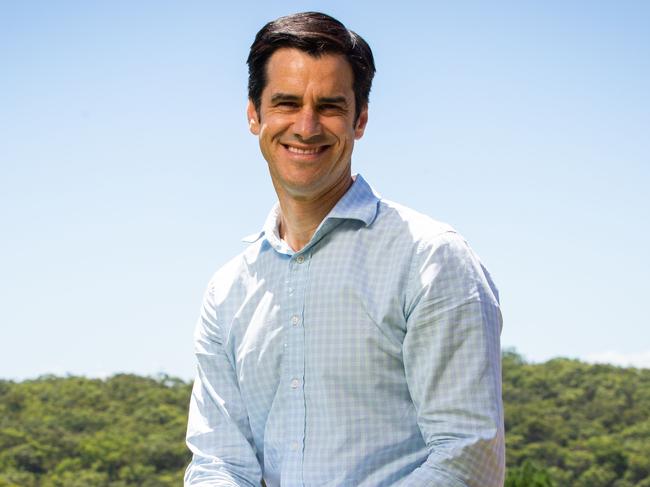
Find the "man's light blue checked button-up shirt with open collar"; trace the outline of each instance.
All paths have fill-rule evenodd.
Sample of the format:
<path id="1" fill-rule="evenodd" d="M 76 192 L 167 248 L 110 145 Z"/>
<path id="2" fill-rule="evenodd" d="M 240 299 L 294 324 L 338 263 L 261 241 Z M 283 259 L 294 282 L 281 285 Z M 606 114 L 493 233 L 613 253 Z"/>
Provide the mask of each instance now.
<path id="1" fill-rule="evenodd" d="M 278 212 L 211 280 L 186 486 L 503 485 L 497 290 L 361 176 L 294 252 Z"/>

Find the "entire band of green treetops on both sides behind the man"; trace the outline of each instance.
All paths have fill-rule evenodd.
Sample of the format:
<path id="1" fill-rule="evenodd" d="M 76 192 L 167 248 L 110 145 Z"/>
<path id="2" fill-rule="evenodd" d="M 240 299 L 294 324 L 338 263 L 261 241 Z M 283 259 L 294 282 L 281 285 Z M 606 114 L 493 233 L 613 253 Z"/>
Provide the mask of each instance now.
<path id="1" fill-rule="evenodd" d="M 503 355 L 506 487 L 650 487 L 650 370 Z M 182 485 L 191 385 L 0 381 L 0 487 Z"/>

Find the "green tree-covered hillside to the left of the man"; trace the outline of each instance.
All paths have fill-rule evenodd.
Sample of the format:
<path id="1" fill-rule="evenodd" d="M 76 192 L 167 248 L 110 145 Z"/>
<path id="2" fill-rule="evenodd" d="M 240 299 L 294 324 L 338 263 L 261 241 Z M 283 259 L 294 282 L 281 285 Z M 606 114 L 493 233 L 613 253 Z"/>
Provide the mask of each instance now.
<path id="1" fill-rule="evenodd" d="M 0 382 L 0 487 L 182 485 L 190 385 L 116 375 Z"/>

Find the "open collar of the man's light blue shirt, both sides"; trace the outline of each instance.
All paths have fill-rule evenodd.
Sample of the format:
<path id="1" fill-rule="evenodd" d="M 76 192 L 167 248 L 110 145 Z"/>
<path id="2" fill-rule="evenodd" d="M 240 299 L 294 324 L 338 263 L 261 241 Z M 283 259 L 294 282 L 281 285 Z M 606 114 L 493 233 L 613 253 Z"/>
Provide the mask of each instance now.
<path id="1" fill-rule="evenodd" d="M 377 203 L 381 197 L 372 189 L 366 180 L 363 179 L 361 174 L 355 174 L 352 178 L 354 180 L 352 186 L 350 186 L 347 192 L 341 197 L 336 205 L 334 205 L 334 208 L 332 208 L 323 219 L 319 227 L 316 229 L 314 236 L 316 236 L 316 234 L 322 234 L 322 230 L 324 229 L 323 227 L 326 225 L 328 220 L 359 220 L 363 222 L 365 226 L 369 226 L 375 220 L 378 208 Z M 280 234 L 278 232 L 279 218 L 280 205 L 279 203 L 276 203 L 266 217 L 262 230 L 244 237 L 243 241 L 254 243 L 264 236 L 273 247 L 284 244 L 284 246 L 288 248 L 288 246 L 280 239 Z"/>

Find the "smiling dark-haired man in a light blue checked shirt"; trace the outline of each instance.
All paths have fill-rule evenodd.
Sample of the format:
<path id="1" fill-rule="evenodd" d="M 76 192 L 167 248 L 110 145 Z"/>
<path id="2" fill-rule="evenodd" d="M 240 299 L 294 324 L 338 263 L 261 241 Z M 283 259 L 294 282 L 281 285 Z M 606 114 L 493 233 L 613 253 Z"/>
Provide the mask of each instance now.
<path id="1" fill-rule="evenodd" d="M 206 291 L 185 485 L 502 485 L 496 288 L 451 227 L 351 172 L 370 48 L 301 13 L 248 66 L 278 205 Z"/>

